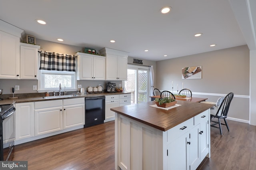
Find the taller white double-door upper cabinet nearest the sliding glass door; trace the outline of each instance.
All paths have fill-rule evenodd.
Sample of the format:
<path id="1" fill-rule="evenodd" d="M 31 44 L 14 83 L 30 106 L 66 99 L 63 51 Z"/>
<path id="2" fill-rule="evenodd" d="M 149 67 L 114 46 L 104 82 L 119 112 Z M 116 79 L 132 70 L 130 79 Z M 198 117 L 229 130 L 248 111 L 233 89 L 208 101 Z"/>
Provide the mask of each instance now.
<path id="1" fill-rule="evenodd" d="M 128 53 L 110 48 L 100 53 L 106 56 L 106 80 L 127 80 Z"/>

